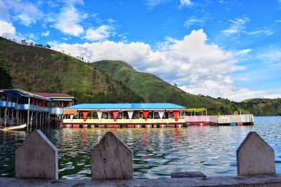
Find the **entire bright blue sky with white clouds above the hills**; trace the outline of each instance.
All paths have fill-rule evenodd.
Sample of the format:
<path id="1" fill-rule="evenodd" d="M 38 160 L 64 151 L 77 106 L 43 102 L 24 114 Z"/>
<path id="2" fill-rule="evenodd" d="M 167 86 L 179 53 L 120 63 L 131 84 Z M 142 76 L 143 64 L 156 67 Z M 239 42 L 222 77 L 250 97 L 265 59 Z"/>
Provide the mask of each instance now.
<path id="1" fill-rule="evenodd" d="M 280 0 L 0 0 L 2 36 L 235 101 L 280 97 L 280 26 Z"/>

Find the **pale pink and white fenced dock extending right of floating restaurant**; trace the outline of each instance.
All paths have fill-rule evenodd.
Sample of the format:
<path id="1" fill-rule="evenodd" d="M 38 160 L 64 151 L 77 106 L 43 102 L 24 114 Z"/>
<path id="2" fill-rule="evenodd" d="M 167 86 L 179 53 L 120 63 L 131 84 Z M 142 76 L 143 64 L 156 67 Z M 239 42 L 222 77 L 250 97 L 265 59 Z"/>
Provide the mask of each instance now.
<path id="1" fill-rule="evenodd" d="M 223 116 L 185 116 L 189 125 L 254 125 L 253 114 Z"/>

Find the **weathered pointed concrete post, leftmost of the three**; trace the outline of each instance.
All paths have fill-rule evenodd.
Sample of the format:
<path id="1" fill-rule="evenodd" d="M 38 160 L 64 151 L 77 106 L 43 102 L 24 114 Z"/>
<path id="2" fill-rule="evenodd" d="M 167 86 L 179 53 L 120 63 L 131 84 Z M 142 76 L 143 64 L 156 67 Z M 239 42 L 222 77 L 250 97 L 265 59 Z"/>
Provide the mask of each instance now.
<path id="1" fill-rule="evenodd" d="M 15 177 L 58 179 L 58 151 L 41 130 L 34 130 L 15 150 Z"/>

